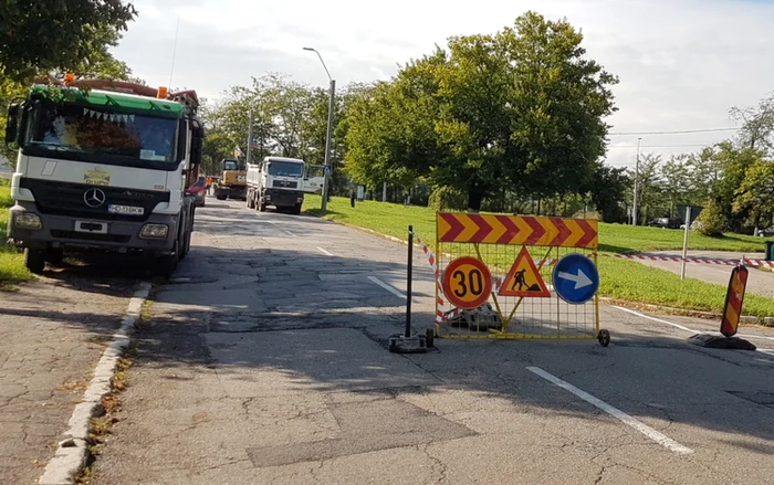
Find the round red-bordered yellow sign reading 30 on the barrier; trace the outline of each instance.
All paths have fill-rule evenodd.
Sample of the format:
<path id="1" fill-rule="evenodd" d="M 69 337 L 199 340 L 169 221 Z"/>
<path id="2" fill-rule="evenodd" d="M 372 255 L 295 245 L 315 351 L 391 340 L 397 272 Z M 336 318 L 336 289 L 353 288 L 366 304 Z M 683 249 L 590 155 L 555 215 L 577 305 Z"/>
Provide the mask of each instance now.
<path id="1" fill-rule="evenodd" d="M 462 256 L 443 271 L 443 295 L 458 308 L 473 309 L 483 305 L 492 294 L 492 275 L 475 257 Z"/>

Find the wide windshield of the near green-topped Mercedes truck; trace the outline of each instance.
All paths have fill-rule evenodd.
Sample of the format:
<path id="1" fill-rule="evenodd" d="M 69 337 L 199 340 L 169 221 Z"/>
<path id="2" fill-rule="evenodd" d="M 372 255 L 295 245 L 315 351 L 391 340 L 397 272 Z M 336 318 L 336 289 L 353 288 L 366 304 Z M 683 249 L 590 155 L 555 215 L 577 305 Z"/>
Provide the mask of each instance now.
<path id="1" fill-rule="evenodd" d="M 25 148 L 102 156 L 106 162 L 111 156 L 176 161 L 176 119 L 50 103 L 39 103 L 28 119 Z"/>

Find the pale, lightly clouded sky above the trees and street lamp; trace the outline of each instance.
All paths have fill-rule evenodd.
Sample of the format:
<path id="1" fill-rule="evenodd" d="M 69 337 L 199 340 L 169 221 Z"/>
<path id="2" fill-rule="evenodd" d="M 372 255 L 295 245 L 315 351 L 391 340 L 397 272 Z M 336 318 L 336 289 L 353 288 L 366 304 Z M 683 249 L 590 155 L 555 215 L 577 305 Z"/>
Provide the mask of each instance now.
<path id="1" fill-rule="evenodd" d="M 216 99 L 251 76 L 285 73 L 327 86 L 389 80 L 452 35 L 494 33 L 527 10 L 566 18 L 587 56 L 617 75 L 607 164 L 698 151 L 733 131 L 732 106 L 774 91 L 774 0 L 132 0 L 138 11 L 113 49 L 149 85 Z M 179 23 L 178 23 L 179 19 Z M 175 38 L 177 32 L 177 49 Z M 171 83 L 170 83 L 171 78 Z"/>

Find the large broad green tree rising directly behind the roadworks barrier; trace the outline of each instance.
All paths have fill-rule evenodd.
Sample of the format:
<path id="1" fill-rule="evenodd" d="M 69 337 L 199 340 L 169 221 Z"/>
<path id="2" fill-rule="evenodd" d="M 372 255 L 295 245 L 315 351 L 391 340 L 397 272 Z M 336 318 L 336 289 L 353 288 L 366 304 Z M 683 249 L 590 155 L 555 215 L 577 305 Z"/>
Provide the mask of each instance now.
<path id="1" fill-rule="evenodd" d="M 604 154 L 617 83 L 582 40 L 532 12 L 493 35 L 450 38 L 358 104 L 348 169 L 372 183 L 423 176 L 475 211 L 508 190 L 578 193 Z"/>

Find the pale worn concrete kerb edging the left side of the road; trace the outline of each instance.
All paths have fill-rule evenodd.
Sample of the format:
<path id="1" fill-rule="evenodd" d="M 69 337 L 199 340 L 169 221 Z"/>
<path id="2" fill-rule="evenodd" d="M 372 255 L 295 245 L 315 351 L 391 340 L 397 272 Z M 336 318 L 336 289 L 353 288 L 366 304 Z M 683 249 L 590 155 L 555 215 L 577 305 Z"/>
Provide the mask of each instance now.
<path id="1" fill-rule="evenodd" d="M 98 412 L 102 398 L 111 393 L 111 381 L 116 365 L 124 349 L 129 345 L 129 337 L 139 320 L 140 310 L 148 298 L 150 287 L 150 283 L 140 284 L 139 289 L 129 299 L 121 327 L 113 334 L 113 340 L 103 351 L 94 370 L 94 377 L 83 393 L 83 399 L 73 410 L 69 422 L 70 429 L 64 433 L 65 439 L 60 442 L 54 457 L 45 465 L 43 476 L 38 482 L 40 485 L 71 485 L 74 483 L 75 475 L 86 465 L 90 420 Z"/>

